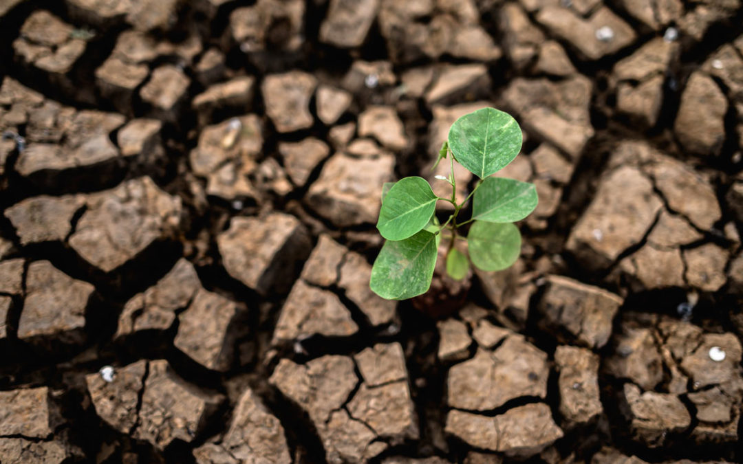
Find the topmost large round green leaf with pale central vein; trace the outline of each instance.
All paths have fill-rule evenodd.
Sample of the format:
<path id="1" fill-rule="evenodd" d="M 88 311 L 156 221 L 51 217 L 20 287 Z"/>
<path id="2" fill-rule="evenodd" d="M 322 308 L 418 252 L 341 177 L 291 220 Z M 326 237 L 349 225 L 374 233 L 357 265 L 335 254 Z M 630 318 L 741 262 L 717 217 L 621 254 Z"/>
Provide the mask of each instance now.
<path id="1" fill-rule="evenodd" d="M 513 161 L 521 143 L 519 123 L 496 108 L 465 114 L 449 129 L 449 148 L 455 160 L 481 179 Z"/>

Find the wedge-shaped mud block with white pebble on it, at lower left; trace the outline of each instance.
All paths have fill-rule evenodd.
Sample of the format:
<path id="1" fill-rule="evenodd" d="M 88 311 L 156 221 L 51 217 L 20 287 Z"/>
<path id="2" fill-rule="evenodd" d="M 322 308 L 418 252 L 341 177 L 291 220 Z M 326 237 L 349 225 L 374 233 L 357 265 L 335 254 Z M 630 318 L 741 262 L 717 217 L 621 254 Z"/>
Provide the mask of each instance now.
<path id="1" fill-rule="evenodd" d="M 129 434 L 137 425 L 147 370 L 148 362 L 142 359 L 115 369 L 112 377 L 106 377 L 103 370 L 85 376 L 96 414 L 122 434 Z"/>

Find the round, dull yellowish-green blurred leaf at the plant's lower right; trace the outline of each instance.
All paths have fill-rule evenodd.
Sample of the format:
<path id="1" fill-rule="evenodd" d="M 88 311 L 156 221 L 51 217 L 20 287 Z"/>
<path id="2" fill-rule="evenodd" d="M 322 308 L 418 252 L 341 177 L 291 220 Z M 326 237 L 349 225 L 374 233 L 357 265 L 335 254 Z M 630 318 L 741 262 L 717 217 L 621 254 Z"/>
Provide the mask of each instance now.
<path id="1" fill-rule="evenodd" d="M 521 233 L 513 223 L 476 220 L 467 235 L 467 246 L 472 264 L 484 271 L 499 271 L 519 259 Z"/>

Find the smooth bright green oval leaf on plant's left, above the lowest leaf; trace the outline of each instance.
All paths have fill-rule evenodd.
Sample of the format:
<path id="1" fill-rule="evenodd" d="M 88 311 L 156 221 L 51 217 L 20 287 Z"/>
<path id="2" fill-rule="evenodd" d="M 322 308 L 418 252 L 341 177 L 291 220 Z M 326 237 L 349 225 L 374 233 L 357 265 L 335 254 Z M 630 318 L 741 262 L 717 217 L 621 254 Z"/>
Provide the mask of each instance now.
<path id="1" fill-rule="evenodd" d="M 436 209 L 438 197 L 423 177 L 405 177 L 382 201 L 377 229 L 387 240 L 403 240 L 423 229 Z"/>

